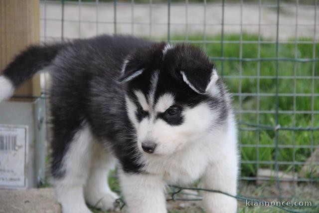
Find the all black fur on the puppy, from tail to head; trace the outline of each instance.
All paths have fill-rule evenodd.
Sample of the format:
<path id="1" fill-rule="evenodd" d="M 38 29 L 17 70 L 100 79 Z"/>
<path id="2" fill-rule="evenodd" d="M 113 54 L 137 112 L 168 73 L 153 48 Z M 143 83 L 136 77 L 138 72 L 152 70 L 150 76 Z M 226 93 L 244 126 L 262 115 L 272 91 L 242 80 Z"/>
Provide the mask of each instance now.
<path id="1" fill-rule="evenodd" d="M 76 132 L 88 124 L 94 136 L 111 147 L 125 172 L 143 172 L 141 153 L 137 147 L 136 130 L 128 118 L 125 95 L 136 102 L 135 90 L 142 91 L 147 98 L 151 79 L 159 72 L 155 103 L 165 93 L 174 96 L 175 104 L 194 107 L 206 102 L 220 112 L 219 122 L 228 115 L 229 103 L 221 80 L 217 81 L 219 97 L 198 94 L 182 78 L 183 71 L 189 82 L 204 92 L 214 65 L 196 47 L 176 45 L 163 55 L 165 43 L 155 43 L 132 36 L 102 35 L 91 39 L 44 46 L 33 46 L 16 57 L 4 70 L 4 75 L 15 86 L 32 77 L 37 71 L 50 66 L 52 87 L 50 92 L 53 123 L 52 175 L 63 176 L 63 156 Z M 128 59 L 122 79 L 143 69 L 143 73 L 127 83 L 120 84 L 121 69 Z M 150 100 L 148 100 L 150 101 Z M 137 112 L 142 120 L 147 112 Z M 180 125 L 180 117 L 160 119 L 171 125 Z M 139 163 L 138 163 L 139 162 Z"/>

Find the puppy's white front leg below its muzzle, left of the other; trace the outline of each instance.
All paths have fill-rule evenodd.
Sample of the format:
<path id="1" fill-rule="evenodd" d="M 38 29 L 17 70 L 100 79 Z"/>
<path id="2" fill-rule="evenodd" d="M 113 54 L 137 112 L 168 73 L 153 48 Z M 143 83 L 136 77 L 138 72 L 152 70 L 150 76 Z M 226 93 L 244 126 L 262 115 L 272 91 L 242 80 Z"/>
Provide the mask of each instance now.
<path id="1" fill-rule="evenodd" d="M 121 188 L 129 213 L 166 213 L 162 177 L 120 172 Z"/>

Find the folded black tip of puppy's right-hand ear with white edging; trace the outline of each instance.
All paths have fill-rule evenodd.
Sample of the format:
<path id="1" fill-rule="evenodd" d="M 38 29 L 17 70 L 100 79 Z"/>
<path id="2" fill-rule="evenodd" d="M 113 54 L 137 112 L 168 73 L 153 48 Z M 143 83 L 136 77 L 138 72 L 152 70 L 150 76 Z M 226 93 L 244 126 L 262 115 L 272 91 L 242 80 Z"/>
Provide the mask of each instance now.
<path id="1" fill-rule="evenodd" d="M 218 75 L 215 67 L 209 70 L 191 70 L 180 71 L 184 82 L 198 94 L 214 94 L 216 90 L 216 81 Z"/>

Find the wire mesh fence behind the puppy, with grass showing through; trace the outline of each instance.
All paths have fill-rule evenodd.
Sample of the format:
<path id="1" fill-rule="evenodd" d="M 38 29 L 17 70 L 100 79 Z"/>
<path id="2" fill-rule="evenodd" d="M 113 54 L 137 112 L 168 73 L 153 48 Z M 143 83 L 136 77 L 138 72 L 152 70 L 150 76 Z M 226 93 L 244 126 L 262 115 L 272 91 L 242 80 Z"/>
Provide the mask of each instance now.
<path id="1" fill-rule="evenodd" d="M 319 182 L 317 0 L 42 0 L 41 40 L 133 34 L 202 47 L 233 96 L 241 180 Z"/>

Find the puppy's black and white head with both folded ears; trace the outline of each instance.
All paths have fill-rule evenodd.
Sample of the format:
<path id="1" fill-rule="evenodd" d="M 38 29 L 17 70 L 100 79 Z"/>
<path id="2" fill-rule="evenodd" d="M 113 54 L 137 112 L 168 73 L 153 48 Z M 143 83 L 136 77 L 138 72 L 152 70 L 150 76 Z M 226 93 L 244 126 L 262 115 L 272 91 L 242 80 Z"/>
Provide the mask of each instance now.
<path id="1" fill-rule="evenodd" d="M 227 117 L 215 66 L 193 46 L 139 48 L 125 60 L 119 82 L 125 84 L 127 113 L 143 153 L 171 155 Z"/>

